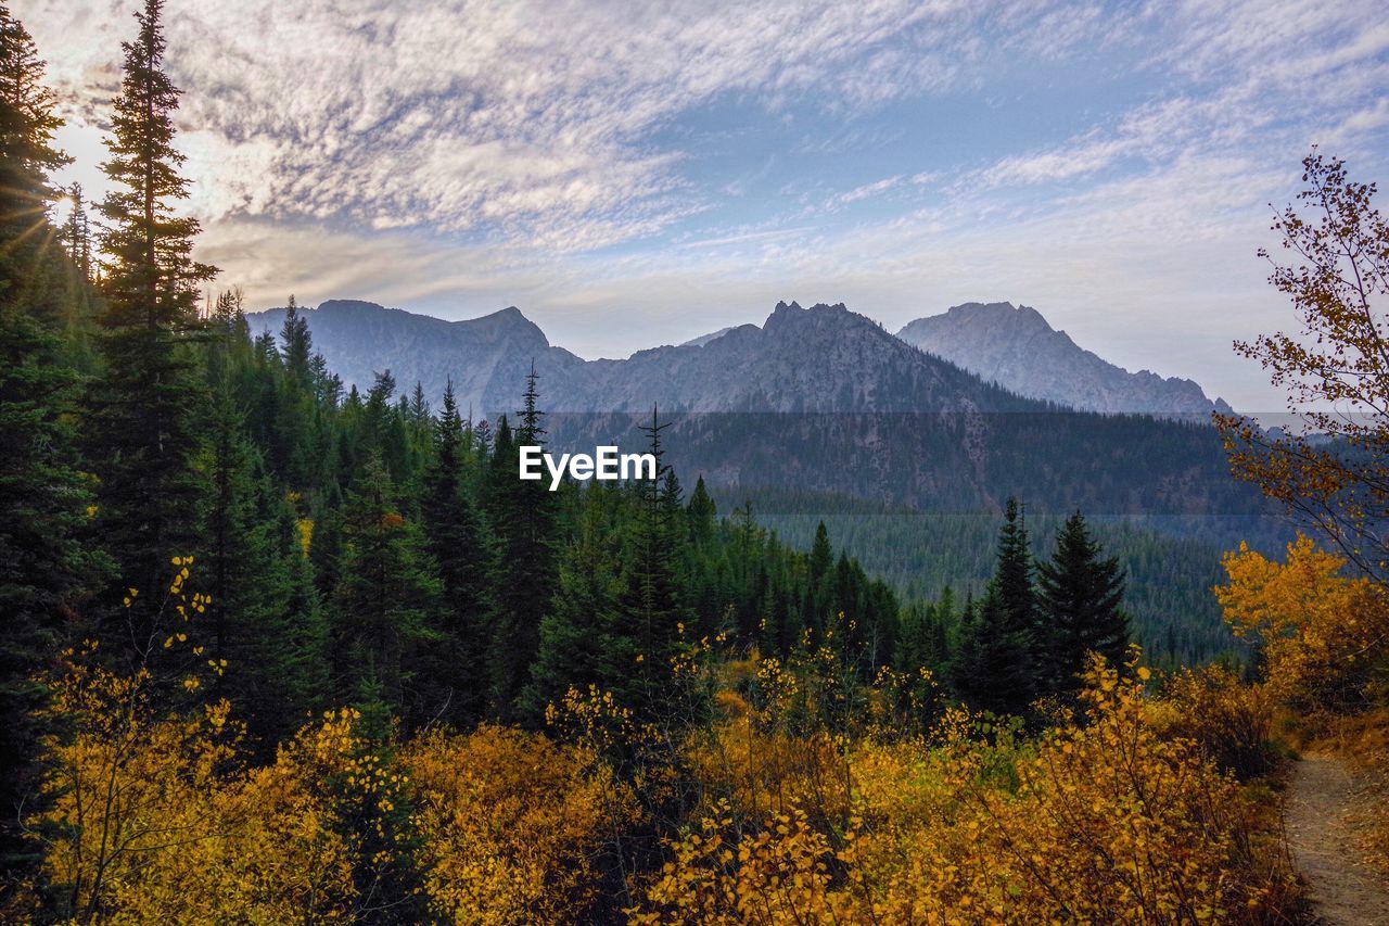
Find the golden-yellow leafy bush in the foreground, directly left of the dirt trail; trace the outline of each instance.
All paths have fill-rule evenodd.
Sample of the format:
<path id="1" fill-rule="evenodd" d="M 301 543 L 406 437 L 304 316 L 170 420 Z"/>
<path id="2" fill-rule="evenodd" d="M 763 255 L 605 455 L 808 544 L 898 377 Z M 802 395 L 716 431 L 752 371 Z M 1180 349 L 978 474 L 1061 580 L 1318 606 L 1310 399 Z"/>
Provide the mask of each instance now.
<path id="1" fill-rule="evenodd" d="M 1139 681 L 1099 665 L 1088 681 L 1082 722 L 1032 744 L 970 738 L 960 716 L 935 737 L 854 744 L 843 827 L 803 809 L 814 793 L 783 795 L 756 823 L 726 798 L 706 808 L 672 840 L 635 918 L 1270 918 L 1292 882 L 1257 862 L 1236 784 L 1192 741 L 1158 734 Z"/>

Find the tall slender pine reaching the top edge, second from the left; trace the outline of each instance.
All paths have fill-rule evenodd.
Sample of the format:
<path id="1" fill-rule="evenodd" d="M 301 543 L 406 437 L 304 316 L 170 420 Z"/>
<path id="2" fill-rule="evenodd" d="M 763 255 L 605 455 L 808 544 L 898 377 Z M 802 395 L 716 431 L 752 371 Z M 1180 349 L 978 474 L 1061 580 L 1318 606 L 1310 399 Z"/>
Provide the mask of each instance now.
<path id="1" fill-rule="evenodd" d="M 136 13 L 139 36 L 122 46 L 125 75 L 104 164 L 115 189 L 101 204 L 106 375 L 93 398 L 103 534 L 125 584 L 144 592 L 144 602 L 158 598 L 168 558 L 194 552 L 199 541 L 197 391 L 183 342 L 196 327 L 199 285 L 215 273 L 192 259 L 197 221 L 174 211 L 188 181 L 174 146 L 179 92 L 161 70 L 161 7 L 146 0 Z M 128 640 L 139 651 L 149 623 L 133 619 Z"/>

